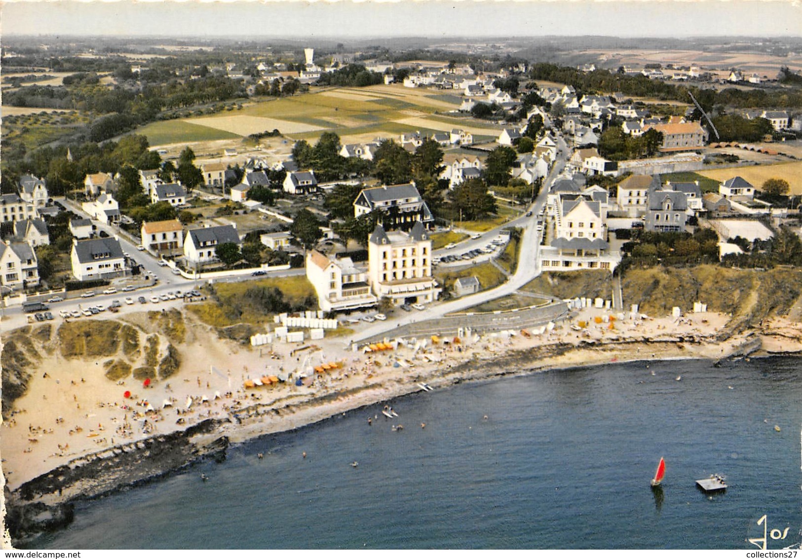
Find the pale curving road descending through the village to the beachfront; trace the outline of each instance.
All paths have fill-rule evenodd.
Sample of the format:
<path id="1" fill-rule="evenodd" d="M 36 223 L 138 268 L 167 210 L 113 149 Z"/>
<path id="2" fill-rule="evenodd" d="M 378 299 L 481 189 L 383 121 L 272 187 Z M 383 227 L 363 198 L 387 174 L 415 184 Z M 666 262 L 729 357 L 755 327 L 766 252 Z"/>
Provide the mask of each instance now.
<path id="1" fill-rule="evenodd" d="M 511 225 L 514 225 L 515 227 L 523 228 L 523 233 L 521 234 L 518 267 L 515 271 L 515 274 L 513 274 L 506 283 L 489 291 L 464 296 L 460 299 L 447 301 L 441 304 L 435 304 L 423 311 L 408 312 L 404 316 L 386 320 L 380 324 L 371 324 L 369 328 L 365 328 L 362 332 L 358 332 L 358 334 L 354 336 L 353 340 L 372 340 L 381 336 L 383 332 L 395 330 L 395 328 L 399 328 L 399 326 L 404 326 L 413 322 L 439 318 L 448 313 L 461 311 L 465 308 L 476 306 L 488 300 L 510 295 L 540 275 L 540 243 L 542 232 L 537 231 L 537 216 L 541 209 L 545 207 L 546 196 L 549 194 L 552 184 L 554 183 L 555 179 L 557 179 L 557 175 L 559 175 L 565 167 L 565 162 L 570 156 L 568 147 L 565 146 L 565 142 L 561 137 L 558 138 L 557 145 L 560 148 L 558 151 L 557 161 L 554 163 L 549 175 L 543 181 L 543 187 L 541 188 L 540 193 L 537 195 L 537 199 L 529 207 L 529 211 L 532 211 L 533 215 L 529 218 L 521 217 L 515 219 L 504 226 L 510 227 Z"/>

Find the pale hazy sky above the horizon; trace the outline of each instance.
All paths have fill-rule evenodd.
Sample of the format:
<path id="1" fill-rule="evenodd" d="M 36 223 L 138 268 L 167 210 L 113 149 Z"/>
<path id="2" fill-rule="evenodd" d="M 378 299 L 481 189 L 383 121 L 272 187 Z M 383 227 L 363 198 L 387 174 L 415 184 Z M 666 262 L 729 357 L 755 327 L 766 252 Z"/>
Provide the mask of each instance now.
<path id="1" fill-rule="evenodd" d="M 0 1 L 9 36 L 802 36 L 802 0 Z"/>

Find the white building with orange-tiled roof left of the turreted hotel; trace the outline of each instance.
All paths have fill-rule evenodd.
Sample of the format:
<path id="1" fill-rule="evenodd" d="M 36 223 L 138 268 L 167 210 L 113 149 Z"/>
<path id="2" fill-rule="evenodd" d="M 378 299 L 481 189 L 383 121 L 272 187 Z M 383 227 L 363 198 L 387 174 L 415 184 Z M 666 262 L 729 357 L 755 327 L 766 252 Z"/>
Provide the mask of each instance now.
<path id="1" fill-rule="evenodd" d="M 318 251 L 306 254 L 306 278 L 318 293 L 322 311 L 373 307 L 379 300 L 367 283 L 367 268 L 350 258 L 330 258 Z"/>

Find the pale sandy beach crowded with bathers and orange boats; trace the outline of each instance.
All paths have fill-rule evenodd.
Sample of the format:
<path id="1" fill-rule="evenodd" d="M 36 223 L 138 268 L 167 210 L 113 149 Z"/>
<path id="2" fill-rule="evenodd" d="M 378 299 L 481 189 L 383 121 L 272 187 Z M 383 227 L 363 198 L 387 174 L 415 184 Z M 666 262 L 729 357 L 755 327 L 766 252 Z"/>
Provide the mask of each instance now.
<path id="1" fill-rule="evenodd" d="M 89 460 L 102 464 L 122 452 L 145 448 L 143 441 L 182 434 L 201 422 L 205 428 L 188 437 L 194 448 L 299 428 L 420 391 L 420 383 L 438 389 L 465 380 L 616 361 L 717 360 L 737 356 L 745 347 L 747 352 L 759 348 L 757 354 L 764 355 L 802 351 L 799 329 L 783 319 L 765 321 L 760 332 L 719 341 L 717 336 L 730 317 L 717 313 L 597 324 L 603 312 L 583 309 L 540 335 L 522 331 L 472 334 L 459 343 L 451 338 L 434 343 L 427 338 L 417 340 L 416 346 L 405 340 L 407 345 L 380 352 L 363 352 L 363 348 L 354 352 L 343 338 L 254 348 L 221 339 L 213 328 L 187 317 L 186 340 L 176 344 L 179 370 L 168 379 L 151 380 L 147 387 L 132 376 L 108 379 L 105 359 L 67 359 L 59 351 L 42 352 L 26 393 L 6 412 L 0 432 L 8 505 L 25 501 L 56 505 L 126 485 L 136 479 L 136 472 L 117 480 L 117 485 L 115 479 L 63 485 L 50 481 L 47 491 L 37 489 L 34 495 L 30 488 L 26 490 L 26 484 L 47 478 L 45 474 L 55 469 L 79 472 Z M 147 324 L 143 317 L 129 321 Z M 295 376 L 270 386 L 244 385 L 245 380 L 332 362 L 338 368 L 314 372 L 299 385 Z M 126 392 L 130 397 L 125 397 Z M 152 473 L 148 470 L 148 476 Z"/>

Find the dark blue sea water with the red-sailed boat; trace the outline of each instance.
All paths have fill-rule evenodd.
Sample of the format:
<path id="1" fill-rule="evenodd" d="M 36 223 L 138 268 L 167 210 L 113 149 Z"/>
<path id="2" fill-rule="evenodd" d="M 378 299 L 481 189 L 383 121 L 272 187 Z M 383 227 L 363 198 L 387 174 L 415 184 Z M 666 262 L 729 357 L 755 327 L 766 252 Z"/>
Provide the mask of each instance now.
<path id="1" fill-rule="evenodd" d="M 387 404 L 398 417 L 382 415 Z M 747 540 L 765 537 L 768 549 L 798 547 L 800 425 L 802 361 L 792 358 L 459 384 L 79 504 L 69 528 L 28 546 L 758 549 Z M 713 473 L 727 478 L 725 493 L 695 487 Z"/>

